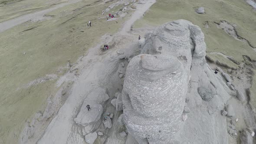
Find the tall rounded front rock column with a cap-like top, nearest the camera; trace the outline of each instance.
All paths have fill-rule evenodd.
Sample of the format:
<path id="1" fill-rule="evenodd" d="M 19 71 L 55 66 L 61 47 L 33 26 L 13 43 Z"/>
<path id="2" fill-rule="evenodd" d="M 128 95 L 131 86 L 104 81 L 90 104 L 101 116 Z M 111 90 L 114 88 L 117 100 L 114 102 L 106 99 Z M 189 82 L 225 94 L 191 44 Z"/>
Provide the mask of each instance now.
<path id="1" fill-rule="evenodd" d="M 143 54 L 131 59 L 122 91 L 123 120 L 138 143 L 146 137 L 152 144 L 171 142 L 183 124 L 186 81 L 184 66 L 174 56 Z"/>

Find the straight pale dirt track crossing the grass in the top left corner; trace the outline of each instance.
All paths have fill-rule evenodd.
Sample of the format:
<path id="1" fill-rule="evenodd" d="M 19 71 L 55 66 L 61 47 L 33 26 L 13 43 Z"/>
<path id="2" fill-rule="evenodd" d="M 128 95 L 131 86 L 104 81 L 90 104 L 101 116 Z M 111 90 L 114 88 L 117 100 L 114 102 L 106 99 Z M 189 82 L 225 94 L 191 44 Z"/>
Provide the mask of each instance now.
<path id="1" fill-rule="evenodd" d="M 64 7 L 66 5 L 69 5 L 69 4 L 72 4 L 72 3 L 77 3 L 81 0 L 69 0 L 67 3 L 61 3 L 61 4 L 58 4 L 54 7 L 51 7 L 49 9 L 46 9 L 46 10 L 42 10 L 42 11 L 39 11 L 39 12 L 36 12 L 36 13 L 29 13 L 29 14 L 25 14 L 23 16 L 19 16 L 19 17 L 16 17 L 12 20 L 8 20 L 8 21 L 5 21 L 5 22 L 2 22 L 0 23 L 0 33 L 7 30 L 7 29 L 10 29 L 12 28 L 13 26 L 17 26 L 21 23 L 25 23 L 26 21 L 29 21 L 29 20 L 39 20 L 40 18 L 42 18 L 46 13 L 49 13 L 53 10 L 56 10 L 60 7 Z"/>

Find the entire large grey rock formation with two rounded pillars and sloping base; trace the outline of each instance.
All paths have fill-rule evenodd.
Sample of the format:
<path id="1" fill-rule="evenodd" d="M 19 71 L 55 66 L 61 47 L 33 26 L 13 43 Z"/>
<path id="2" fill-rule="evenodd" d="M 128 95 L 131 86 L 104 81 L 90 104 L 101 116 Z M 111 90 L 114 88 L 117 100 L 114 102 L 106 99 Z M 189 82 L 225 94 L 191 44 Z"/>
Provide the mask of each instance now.
<path id="1" fill-rule="evenodd" d="M 165 23 L 145 35 L 141 55 L 127 66 L 122 91 L 123 120 L 138 143 L 227 143 L 220 110 L 236 93 L 214 74 L 205 55 L 204 35 L 189 21 Z M 199 87 L 210 92 L 202 95 L 207 101 L 202 101 Z M 190 113 L 183 113 L 185 99 Z M 208 131 L 219 134 L 202 139 Z"/>

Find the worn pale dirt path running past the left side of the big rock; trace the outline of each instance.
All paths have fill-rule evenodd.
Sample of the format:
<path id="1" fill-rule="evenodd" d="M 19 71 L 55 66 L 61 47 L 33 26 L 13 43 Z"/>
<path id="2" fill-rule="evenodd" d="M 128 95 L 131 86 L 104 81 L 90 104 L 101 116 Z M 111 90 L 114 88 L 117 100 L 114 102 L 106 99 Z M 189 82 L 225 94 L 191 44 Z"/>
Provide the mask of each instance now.
<path id="1" fill-rule="evenodd" d="M 84 137 L 81 136 L 78 130 L 77 124 L 74 123 L 73 118 L 77 115 L 82 101 L 85 96 L 99 86 L 105 86 L 109 83 L 113 87 L 115 85 L 121 85 L 122 81 L 118 78 L 111 78 L 113 72 L 118 67 L 118 56 L 114 49 L 110 49 L 102 55 L 99 47 L 112 41 L 113 38 L 124 38 L 122 39 L 121 45 L 128 45 L 131 43 L 131 39 L 125 39 L 128 35 L 131 25 L 143 16 L 144 12 L 154 4 L 155 0 L 148 0 L 144 4 L 138 4 L 137 10 L 133 13 L 131 18 L 124 24 L 120 32 L 116 33 L 114 36 L 103 36 L 102 43 L 99 43 L 95 48 L 89 49 L 89 52 L 84 56 L 75 68 L 80 70 L 80 75 L 78 78 L 67 73 L 59 82 L 62 83 L 65 80 L 76 79 L 71 93 L 62 107 L 59 109 L 58 114 L 50 122 L 43 136 L 39 139 L 38 144 L 49 144 L 49 143 L 75 143 L 82 144 L 84 142 Z M 122 35 L 122 36 L 121 36 Z M 110 79 L 115 79 L 111 82 Z"/>

